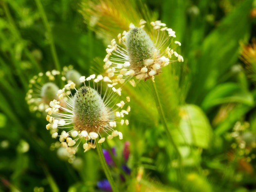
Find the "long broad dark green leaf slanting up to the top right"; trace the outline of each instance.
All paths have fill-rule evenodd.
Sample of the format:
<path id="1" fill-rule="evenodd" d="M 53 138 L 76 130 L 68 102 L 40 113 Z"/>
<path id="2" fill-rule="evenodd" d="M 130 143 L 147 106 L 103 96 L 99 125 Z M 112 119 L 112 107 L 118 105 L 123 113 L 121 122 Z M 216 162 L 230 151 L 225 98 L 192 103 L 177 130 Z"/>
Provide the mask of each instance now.
<path id="1" fill-rule="evenodd" d="M 187 98 L 189 102 L 201 103 L 207 92 L 217 85 L 218 80 L 238 60 L 239 42 L 249 38 L 252 2 L 244 1 L 204 40 L 198 60 L 189 64 L 196 69 Z"/>

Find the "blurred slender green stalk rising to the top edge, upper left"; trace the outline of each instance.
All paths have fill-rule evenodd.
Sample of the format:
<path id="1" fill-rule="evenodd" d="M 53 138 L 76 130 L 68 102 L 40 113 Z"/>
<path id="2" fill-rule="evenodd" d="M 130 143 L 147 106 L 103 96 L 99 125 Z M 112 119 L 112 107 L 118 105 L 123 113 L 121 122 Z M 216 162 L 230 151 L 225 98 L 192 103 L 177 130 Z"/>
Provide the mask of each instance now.
<path id="1" fill-rule="evenodd" d="M 52 57 L 54 59 L 54 65 L 58 71 L 61 71 L 61 65 L 58 61 L 58 56 L 57 56 L 57 52 L 56 52 L 56 48 L 55 48 L 55 44 L 54 44 L 54 39 L 52 36 L 52 29 L 49 25 L 45 11 L 43 9 L 43 5 L 40 0 L 36 0 L 36 6 L 38 7 L 38 11 L 41 15 L 41 18 L 43 19 L 43 23 L 44 23 L 46 31 L 47 31 L 47 38 L 49 40 L 49 44 L 51 47 Z"/>

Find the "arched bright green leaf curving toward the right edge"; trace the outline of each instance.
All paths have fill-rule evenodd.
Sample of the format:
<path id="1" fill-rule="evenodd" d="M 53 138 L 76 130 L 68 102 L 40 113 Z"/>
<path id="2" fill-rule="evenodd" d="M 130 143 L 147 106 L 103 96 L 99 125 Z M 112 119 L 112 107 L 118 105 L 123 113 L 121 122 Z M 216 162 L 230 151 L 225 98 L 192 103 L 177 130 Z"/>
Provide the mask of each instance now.
<path id="1" fill-rule="evenodd" d="M 224 83 L 209 92 L 202 102 L 202 109 L 207 111 L 215 105 L 229 102 L 254 105 L 254 98 L 250 92 L 245 91 L 240 85 Z"/>

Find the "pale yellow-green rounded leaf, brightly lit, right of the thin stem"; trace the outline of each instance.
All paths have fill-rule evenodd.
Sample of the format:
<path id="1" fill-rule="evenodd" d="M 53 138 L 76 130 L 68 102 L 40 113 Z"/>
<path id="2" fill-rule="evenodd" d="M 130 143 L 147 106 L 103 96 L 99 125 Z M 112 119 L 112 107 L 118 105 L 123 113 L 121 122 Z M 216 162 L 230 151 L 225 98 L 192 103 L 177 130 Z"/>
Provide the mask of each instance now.
<path id="1" fill-rule="evenodd" d="M 179 129 L 173 129 L 176 143 L 207 148 L 211 140 L 211 125 L 207 116 L 196 105 L 184 105 L 180 108 Z"/>

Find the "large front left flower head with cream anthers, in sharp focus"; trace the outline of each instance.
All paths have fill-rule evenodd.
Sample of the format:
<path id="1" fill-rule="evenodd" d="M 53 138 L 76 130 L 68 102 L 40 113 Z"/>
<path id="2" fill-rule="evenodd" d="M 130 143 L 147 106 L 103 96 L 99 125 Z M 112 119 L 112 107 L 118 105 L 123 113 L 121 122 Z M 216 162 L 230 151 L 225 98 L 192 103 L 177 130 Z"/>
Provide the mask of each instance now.
<path id="1" fill-rule="evenodd" d="M 85 78 L 81 76 L 80 82 L 83 86 L 79 89 L 76 89 L 75 83 L 71 82 L 58 90 L 57 96 L 60 101 L 52 100 L 50 107 L 45 110 L 48 113 L 46 119 L 49 122 L 46 128 L 50 129 L 53 138 L 59 137 L 62 147 L 73 154 L 81 142 L 85 151 L 95 148 L 95 142 L 99 137 L 97 142 L 103 143 L 106 138 L 101 137 L 101 134 L 104 133 L 108 134 L 108 139 L 116 136 L 122 139 L 122 133 L 114 128 L 117 123 L 128 125 L 128 120 L 123 118 L 130 112 L 129 106 L 126 110 L 124 109 L 124 105 L 130 98 L 127 98 L 127 102 L 117 103 L 115 100 L 121 95 L 121 88 L 115 88 L 117 83 L 110 84 L 111 80 L 108 77 L 98 75 L 96 78 L 95 75 L 91 75 Z M 103 83 L 108 83 L 108 85 L 106 92 L 101 94 Z M 66 94 L 66 92 L 73 91 L 75 93 L 71 96 Z M 65 102 L 67 107 L 61 106 L 61 101 Z M 58 129 L 62 129 L 60 134 Z"/>

